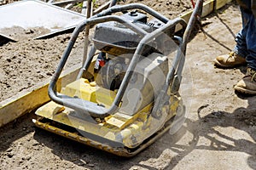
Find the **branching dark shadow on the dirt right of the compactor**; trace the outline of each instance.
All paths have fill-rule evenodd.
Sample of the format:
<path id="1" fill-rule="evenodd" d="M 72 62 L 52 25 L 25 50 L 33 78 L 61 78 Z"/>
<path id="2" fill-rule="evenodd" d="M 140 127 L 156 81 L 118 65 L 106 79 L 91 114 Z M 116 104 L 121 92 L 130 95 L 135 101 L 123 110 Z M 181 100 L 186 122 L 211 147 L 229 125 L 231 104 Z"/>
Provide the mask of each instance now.
<path id="1" fill-rule="evenodd" d="M 189 146 L 175 143 L 170 144 L 170 150 L 176 152 L 177 156 L 172 158 L 172 161 L 166 169 L 176 167 L 178 161 L 181 161 L 183 157 L 187 156 L 192 150 L 243 152 L 249 155 L 247 159 L 248 166 L 256 169 L 256 97 L 243 96 L 242 98 L 247 99 L 247 108 L 240 107 L 232 113 L 212 111 L 207 114 L 207 116 L 203 117 L 200 116 L 201 108 L 199 108 L 199 119 L 197 121 L 193 122 L 187 119 L 187 125 L 183 130 L 192 133 L 193 139 L 189 142 Z M 231 134 L 221 133 L 216 127 L 234 127 L 236 130 L 247 133 L 252 140 L 242 139 L 242 137 L 241 139 L 232 138 L 230 137 Z M 218 138 L 216 138 L 216 136 Z M 198 144 L 200 138 L 210 140 L 211 144 Z M 172 137 L 170 137 L 170 139 L 172 139 Z"/>

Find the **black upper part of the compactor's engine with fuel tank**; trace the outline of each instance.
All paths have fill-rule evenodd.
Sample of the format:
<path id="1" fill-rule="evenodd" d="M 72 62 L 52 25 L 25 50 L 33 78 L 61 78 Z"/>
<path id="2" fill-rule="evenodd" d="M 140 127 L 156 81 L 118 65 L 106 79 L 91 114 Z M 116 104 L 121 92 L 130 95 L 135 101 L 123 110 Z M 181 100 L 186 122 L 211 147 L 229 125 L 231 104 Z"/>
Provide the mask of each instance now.
<path id="1" fill-rule="evenodd" d="M 131 11 L 120 17 L 148 33 L 164 26 L 164 23 L 160 20 L 154 19 L 148 22 L 147 15 L 137 11 Z M 153 43 L 146 45 L 146 48 L 143 50 L 143 56 L 154 52 L 163 53 L 166 51 L 164 44 L 166 41 L 170 40 L 170 37 L 173 37 L 173 35 L 174 29 L 164 32 L 163 36 L 157 37 L 158 39 Z M 138 42 L 140 42 L 142 38 L 143 37 L 138 35 L 135 31 L 131 31 L 131 29 L 128 29 L 124 25 L 115 21 L 109 21 L 96 26 L 93 42 L 95 47 L 100 51 L 112 54 L 113 56 L 119 56 L 122 54 L 134 54 Z"/>

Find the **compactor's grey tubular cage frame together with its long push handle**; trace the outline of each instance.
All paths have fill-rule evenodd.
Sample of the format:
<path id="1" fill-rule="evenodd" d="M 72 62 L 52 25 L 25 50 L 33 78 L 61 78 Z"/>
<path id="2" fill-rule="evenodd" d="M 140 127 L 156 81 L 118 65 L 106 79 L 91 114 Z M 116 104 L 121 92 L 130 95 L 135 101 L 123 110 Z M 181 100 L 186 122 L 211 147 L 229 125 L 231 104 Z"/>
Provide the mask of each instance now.
<path id="1" fill-rule="evenodd" d="M 202 2 L 202 0 L 199 0 L 199 3 L 200 2 Z M 197 5 L 197 6 L 199 6 L 199 5 Z M 110 15 L 113 13 L 122 12 L 122 11 L 126 11 L 129 9 L 135 9 L 135 8 L 142 9 L 143 11 L 147 12 L 148 14 L 151 14 L 152 16 L 154 16 L 156 19 L 161 20 L 166 25 L 160 27 L 159 29 L 157 29 L 151 33 L 148 33 L 146 31 L 143 31 L 143 29 L 135 26 L 134 24 L 121 19 L 119 16 Z M 198 12 L 197 8 L 195 8 L 195 10 L 196 10 L 196 13 L 195 13 L 195 11 L 194 11 L 194 13 L 197 14 L 197 12 Z M 193 16 L 195 18 L 195 14 L 194 15 L 193 14 L 191 16 L 192 20 L 193 20 Z M 106 16 L 106 15 L 109 15 L 109 16 Z M 190 20 L 191 20 L 191 18 L 190 18 Z M 191 22 L 190 20 L 189 20 L 189 23 Z M 63 67 L 67 62 L 67 58 L 68 58 L 69 54 L 71 53 L 74 42 L 76 41 L 77 37 L 79 36 L 79 32 L 83 31 L 85 26 L 96 25 L 98 23 L 107 22 L 107 21 L 117 21 L 117 22 L 127 26 L 132 31 L 136 31 L 139 35 L 143 36 L 142 40 L 138 43 L 137 49 L 131 59 L 130 65 L 128 66 L 128 69 L 125 73 L 125 77 L 120 85 L 119 91 L 118 91 L 115 99 L 113 100 L 113 104 L 111 105 L 111 107 L 109 109 L 103 108 L 102 106 L 97 105 L 96 103 L 92 103 L 92 102 L 86 101 L 84 99 L 72 98 L 67 95 L 59 94 L 56 92 L 56 82 L 59 79 L 59 77 L 61 75 L 61 71 L 63 70 Z M 186 22 L 184 20 L 182 20 L 181 18 L 177 18 L 174 20 L 168 20 L 165 16 L 163 16 L 163 15 L 157 13 L 156 11 L 154 11 L 153 9 L 148 8 L 147 6 L 145 6 L 143 4 L 139 4 L 139 3 L 128 4 L 128 5 L 124 5 L 124 6 L 120 6 L 120 7 L 113 6 L 112 8 L 108 8 L 108 9 L 102 11 L 101 13 L 90 17 L 90 19 L 88 19 L 88 20 L 84 20 L 84 22 L 81 23 L 79 26 L 77 26 L 76 29 L 73 31 L 73 35 L 72 35 L 70 41 L 68 42 L 67 48 L 65 49 L 65 51 L 61 57 L 61 61 L 55 71 L 55 74 L 52 77 L 51 81 L 49 82 L 48 93 L 49 93 L 50 99 L 52 99 L 53 101 L 55 101 L 56 103 L 58 103 L 60 105 L 65 105 L 67 107 L 70 107 L 70 108 L 74 109 L 75 111 L 88 112 L 90 114 L 90 116 L 103 118 L 105 116 L 115 113 L 119 109 L 119 104 L 121 102 L 122 97 L 125 94 L 125 89 L 127 88 L 127 85 L 130 82 L 131 76 L 132 76 L 133 71 L 137 65 L 140 54 L 142 54 L 142 52 L 143 52 L 144 45 L 147 42 L 153 40 L 154 37 L 159 36 L 162 32 L 173 28 L 173 26 L 177 26 L 177 24 L 180 24 L 181 26 L 183 26 L 183 28 L 186 28 L 186 30 L 183 35 L 183 41 L 180 41 L 182 43 L 180 44 L 179 52 L 177 53 L 177 56 L 175 57 L 174 65 L 167 74 L 166 83 L 164 85 L 164 88 L 167 85 L 172 84 L 173 76 L 177 72 L 177 69 L 180 68 L 180 65 L 182 65 L 182 67 L 183 67 L 182 62 L 184 61 L 184 59 L 181 59 L 181 54 L 183 54 L 185 52 L 186 43 L 188 42 L 188 39 L 189 39 L 188 37 L 192 30 L 192 26 L 187 26 Z M 86 71 L 86 67 L 87 67 L 86 65 L 89 64 L 89 62 L 88 62 L 89 60 L 90 60 L 90 58 L 88 58 L 84 64 L 85 71 Z M 181 67 L 181 69 L 182 69 L 182 67 Z M 168 88 L 165 88 L 165 89 L 167 92 Z M 160 101 L 160 100 L 161 99 L 159 99 L 158 101 Z"/>

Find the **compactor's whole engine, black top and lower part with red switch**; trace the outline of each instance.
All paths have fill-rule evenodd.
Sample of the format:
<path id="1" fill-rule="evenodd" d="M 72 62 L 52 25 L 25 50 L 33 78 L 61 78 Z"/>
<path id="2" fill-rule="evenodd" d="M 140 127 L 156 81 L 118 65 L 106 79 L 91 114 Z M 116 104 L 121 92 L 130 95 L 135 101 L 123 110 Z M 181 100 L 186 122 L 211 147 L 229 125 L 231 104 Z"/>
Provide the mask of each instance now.
<path id="1" fill-rule="evenodd" d="M 154 19 L 148 22 L 147 15 L 137 11 L 125 13 L 120 17 L 148 33 L 164 26 L 164 23 L 160 20 Z M 143 57 L 153 53 L 165 54 L 165 51 L 168 51 L 168 49 L 165 49 L 165 43 L 170 41 L 170 37 L 173 37 L 173 35 L 174 29 L 164 32 L 154 42 L 148 43 L 143 48 Z M 96 26 L 92 40 L 95 47 L 101 51 L 95 65 L 95 72 L 100 71 L 96 78 L 98 85 L 110 90 L 119 89 L 131 57 L 142 38 L 137 32 L 131 31 L 131 29 L 115 21 L 108 21 Z"/>

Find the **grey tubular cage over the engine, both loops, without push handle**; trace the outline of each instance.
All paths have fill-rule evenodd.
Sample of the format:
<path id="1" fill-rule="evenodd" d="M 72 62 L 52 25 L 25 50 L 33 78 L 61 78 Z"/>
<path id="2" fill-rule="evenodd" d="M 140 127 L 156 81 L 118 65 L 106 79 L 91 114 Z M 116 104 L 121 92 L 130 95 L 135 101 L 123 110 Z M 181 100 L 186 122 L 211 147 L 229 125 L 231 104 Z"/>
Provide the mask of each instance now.
<path id="1" fill-rule="evenodd" d="M 145 9 L 146 11 L 149 11 L 152 15 L 154 15 L 156 18 L 161 19 L 166 23 L 165 26 L 151 32 L 147 33 L 146 31 L 143 31 L 143 29 L 135 26 L 132 23 L 128 23 L 125 20 L 121 19 L 120 17 L 117 16 L 103 16 L 104 14 L 109 14 L 112 13 L 113 11 L 119 11 L 119 10 L 125 10 L 125 9 L 131 9 L 131 8 L 142 8 Z M 125 77 L 120 85 L 118 94 L 116 95 L 115 99 L 113 100 L 113 104 L 109 109 L 103 108 L 102 106 L 99 106 L 95 103 L 92 103 L 90 101 L 86 101 L 84 99 L 77 99 L 77 98 L 72 98 L 68 97 L 67 95 L 59 94 L 55 90 L 56 82 L 59 79 L 61 75 L 61 71 L 64 67 L 64 65 L 67 62 L 67 58 L 69 54 L 71 53 L 71 49 L 73 48 L 73 44 L 76 41 L 79 32 L 84 29 L 84 26 L 88 25 L 95 25 L 100 22 L 107 22 L 107 21 L 118 21 L 125 26 L 129 27 L 131 30 L 136 31 L 139 35 L 143 36 L 143 39 L 139 42 L 136 52 L 133 55 L 131 59 L 131 63 L 128 66 L 128 69 L 125 73 Z M 135 67 L 137 65 L 137 62 L 140 59 L 140 55 L 143 52 L 144 45 L 151 40 L 154 40 L 154 37 L 159 36 L 162 32 L 165 32 L 168 29 L 171 29 L 173 26 L 176 26 L 177 24 L 181 24 L 183 27 L 186 26 L 186 23 L 184 20 L 177 18 L 175 20 L 167 20 L 165 17 L 161 17 L 160 14 L 156 13 L 153 9 L 148 8 L 145 5 L 141 4 L 129 4 L 125 5 L 124 8 L 117 8 L 114 6 L 113 8 L 108 8 L 99 15 L 93 16 L 88 20 L 84 20 L 83 23 L 81 23 L 79 26 L 76 27 L 76 29 L 73 31 L 73 36 L 71 37 L 70 41 L 68 42 L 67 48 L 64 51 L 64 54 L 61 58 L 60 64 L 57 67 L 57 70 L 55 71 L 55 74 L 52 78 L 52 80 L 49 82 L 49 97 L 53 101 L 55 101 L 58 104 L 61 105 L 66 105 L 67 107 L 73 108 L 74 110 L 78 111 L 87 111 L 91 116 L 97 116 L 97 117 L 105 117 L 110 114 L 113 114 L 115 111 L 119 109 L 119 103 L 122 99 L 122 97 L 125 94 L 125 89 L 127 88 L 131 76 L 133 74 L 133 71 L 135 70 Z"/>

